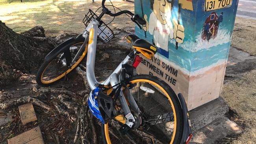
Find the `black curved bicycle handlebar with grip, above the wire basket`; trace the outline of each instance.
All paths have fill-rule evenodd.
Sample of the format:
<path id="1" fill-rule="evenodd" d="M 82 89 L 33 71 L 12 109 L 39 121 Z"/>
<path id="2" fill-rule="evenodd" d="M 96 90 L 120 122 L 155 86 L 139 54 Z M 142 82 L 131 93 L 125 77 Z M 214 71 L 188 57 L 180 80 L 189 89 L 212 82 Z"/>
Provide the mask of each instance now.
<path id="1" fill-rule="evenodd" d="M 106 2 L 106 0 L 102 0 L 102 8 L 103 8 L 103 10 L 105 11 L 105 13 L 107 15 L 110 15 L 112 17 L 116 17 L 116 16 L 122 15 L 124 13 L 127 13 L 127 14 L 132 16 L 131 20 L 133 22 L 135 22 L 140 28 L 141 28 L 141 26 L 139 24 L 141 24 L 141 25 L 146 24 L 146 21 L 145 21 L 144 18 L 140 18 L 139 15 L 134 15 L 134 13 L 132 13 L 131 11 L 128 11 L 128 10 L 119 11 L 118 13 L 111 13 L 111 11 L 109 11 L 108 8 L 105 7 L 105 2 Z"/>

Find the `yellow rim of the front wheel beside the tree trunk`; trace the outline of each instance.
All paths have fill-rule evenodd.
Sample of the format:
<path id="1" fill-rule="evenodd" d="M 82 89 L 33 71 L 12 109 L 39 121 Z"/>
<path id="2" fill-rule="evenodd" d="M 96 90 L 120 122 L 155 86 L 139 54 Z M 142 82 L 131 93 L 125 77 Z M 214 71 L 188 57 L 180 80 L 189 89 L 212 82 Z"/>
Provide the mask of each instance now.
<path id="1" fill-rule="evenodd" d="M 77 44 L 80 44 L 80 43 L 83 43 L 83 42 L 79 42 L 79 43 L 77 43 Z M 76 45 L 76 44 L 74 44 L 74 45 Z M 74 45 L 72 45 L 72 46 L 74 46 Z M 70 46 L 70 47 L 71 47 L 71 46 Z M 56 78 L 54 78 L 54 79 L 51 79 L 51 80 L 48 80 L 48 81 L 43 80 L 43 74 L 45 73 L 45 70 L 46 70 L 46 68 L 47 68 L 47 66 L 46 66 L 45 70 L 43 71 L 43 74 L 41 75 L 41 82 L 42 82 L 43 84 L 49 84 L 49 83 L 53 83 L 54 81 L 57 81 L 57 80 L 63 78 L 63 76 L 65 76 L 65 75 L 67 75 L 69 72 L 71 72 L 71 71 L 83 60 L 83 58 L 85 57 L 85 55 L 86 55 L 86 53 L 87 53 L 87 49 L 88 49 L 88 44 L 86 44 L 86 46 L 85 46 L 85 51 L 83 52 L 83 54 L 81 55 L 81 57 L 78 59 L 78 61 L 77 61 L 76 63 L 74 63 L 73 66 L 71 66 L 71 68 L 69 68 L 66 72 L 63 72 L 63 74 L 59 75 L 58 77 L 56 77 Z M 50 64 L 50 63 L 49 63 L 49 64 Z"/>

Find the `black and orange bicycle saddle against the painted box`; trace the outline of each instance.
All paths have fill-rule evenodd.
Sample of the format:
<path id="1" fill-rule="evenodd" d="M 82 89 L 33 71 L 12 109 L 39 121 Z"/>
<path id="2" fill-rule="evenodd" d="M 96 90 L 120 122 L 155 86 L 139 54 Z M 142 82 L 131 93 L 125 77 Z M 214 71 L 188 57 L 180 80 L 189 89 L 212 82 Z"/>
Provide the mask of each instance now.
<path id="1" fill-rule="evenodd" d="M 145 39 L 139 39 L 134 34 L 129 34 L 126 37 L 126 41 L 132 44 L 132 48 L 135 48 L 137 52 L 140 52 L 142 55 L 151 59 L 156 54 L 156 46 L 151 44 Z"/>

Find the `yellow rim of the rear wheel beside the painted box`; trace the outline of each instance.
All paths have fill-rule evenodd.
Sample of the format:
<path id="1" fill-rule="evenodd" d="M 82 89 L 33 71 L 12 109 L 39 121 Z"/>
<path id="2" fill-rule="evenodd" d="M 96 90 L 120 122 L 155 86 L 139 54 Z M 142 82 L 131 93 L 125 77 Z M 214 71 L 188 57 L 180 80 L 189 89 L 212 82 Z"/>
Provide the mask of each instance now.
<path id="1" fill-rule="evenodd" d="M 133 83 L 137 83 L 137 82 L 147 82 L 147 83 L 156 85 L 159 89 L 161 89 L 161 90 L 163 91 L 163 93 L 165 94 L 165 96 L 169 99 L 169 102 L 170 102 L 171 105 L 172 105 L 173 114 L 174 114 L 174 131 L 173 131 L 172 140 L 171 140 L 171 142 L 170 142 L 170 144 L 173 144 L 174 137 L 175 137 L 175 134 L 176 134 L 177 119 L 176 119 L 176 111 L 175 111 L 173 102 L 172 102 L 172 100 L 171 100 L 169 94 L 163 89 L 163 87 L 161 87 L 160 85 L 158 85 L 158 84 L 155 83 L 154 81 L 150 81 L 150 80 L 148 80 L 148 79 L 135 79 L 135 80 L 130 81 L 130 83 L 132 83 L 132 84 L 133 84 Z M 105 137 L 106 137 L 107 143 L 108 143 L 108 144 L 111 144 L 111 140 L 110 140 L 109 133 L 108 133 L 108 123 L 104 125 L 104 131 L 105 131 Z"/>

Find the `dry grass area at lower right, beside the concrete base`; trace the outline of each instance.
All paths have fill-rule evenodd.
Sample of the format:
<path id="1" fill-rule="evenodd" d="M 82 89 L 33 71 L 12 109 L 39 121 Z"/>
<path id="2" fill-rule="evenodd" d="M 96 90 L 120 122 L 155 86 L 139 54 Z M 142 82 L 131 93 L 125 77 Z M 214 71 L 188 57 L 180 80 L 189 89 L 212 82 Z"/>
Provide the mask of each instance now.
<path id="1" fill-rule="evenodd" d="M 238 114 L 235 122 L 246 126 L 232 144 L 256 144 L 256 69 L 225 83 L 221 96 Z"/>

